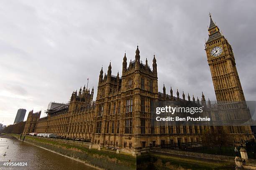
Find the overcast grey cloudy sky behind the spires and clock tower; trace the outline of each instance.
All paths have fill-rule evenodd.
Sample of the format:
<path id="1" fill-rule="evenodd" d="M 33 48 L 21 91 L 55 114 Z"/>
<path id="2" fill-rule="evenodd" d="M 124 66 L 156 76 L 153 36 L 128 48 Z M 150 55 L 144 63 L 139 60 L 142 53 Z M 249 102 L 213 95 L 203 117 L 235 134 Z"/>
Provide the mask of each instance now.
<path id="1" fill-rule="evenodd" d="M 27 117 L 68 102 L 87 77 L 97 92 L 101 66 L 106 72 L 111 60 L 117 74 L 137 43 L 143 62 L 156 54 L 159 91 L 164 83 L 168 93 L 172 85 L 215 100 L 204 50 L 209 12 L 233 47 L 246 100 L 256 100 L 255 8 L 254 0 L 1 0 L 0 123 L 12 124 L 19 108 Z"/>

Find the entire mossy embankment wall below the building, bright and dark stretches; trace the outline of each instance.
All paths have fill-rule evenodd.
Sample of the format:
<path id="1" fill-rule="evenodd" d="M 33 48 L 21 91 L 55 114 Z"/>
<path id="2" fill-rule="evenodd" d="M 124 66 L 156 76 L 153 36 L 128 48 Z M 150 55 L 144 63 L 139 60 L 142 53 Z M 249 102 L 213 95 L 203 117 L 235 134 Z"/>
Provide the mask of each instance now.
<path id="1" fill-rule="evenodd" d="M 20 138 L 20 135 L 9 135 L 17 139 Z M 23 137 L 21 140 L 23 140 Z M 230 161 L 189 158 L 184 155 L 159 153 L 153 150 L 149 154 L 140 155 L 135 158 L 130 155 L 117 154 L 111 150 L 89 149 L 56 142 L 48 138 L 31 136 L 26 136 L 24 141 L 109 170 L 233 170 L 235 163 Z"/>

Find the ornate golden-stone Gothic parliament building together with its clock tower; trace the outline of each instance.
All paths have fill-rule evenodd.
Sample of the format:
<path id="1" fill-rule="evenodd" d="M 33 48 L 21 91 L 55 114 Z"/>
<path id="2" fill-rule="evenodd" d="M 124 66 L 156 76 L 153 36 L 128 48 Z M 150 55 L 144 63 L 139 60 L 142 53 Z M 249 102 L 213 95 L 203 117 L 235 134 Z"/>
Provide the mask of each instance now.
<path id="1" fill-rule="evenodd" d="M 207 61 L 218 101 L 245 101 L 236 70 L 232 47 L 222 35 L 210 15 L 209 38 L 205 43 Z M 137 46 L 135 60 L 123 57 L 122 75 L 112 75 L 111 63 L 108 72 L 101 68 L 97 86 L 96 101 L 93 101 L 94 88 L 81 87 L 72 92 L 67 105 L 47 110 L 47 116 L 40 118 L 40 112 L 29 112 L 23 133 L 54 133 L 65 138 L 90 140 L 92 148 L 117 148 L 124 153 L 138 155 L 150 146 L 163 143 L 197 143 L 202 141 L 202 133 L 207 126 L 183 125 L 157 127 L 151 124 L 152 102 L 190 102 L 182 92 L 166 87 L 159 92 L 156 57 L 152 67 L 148 61 L 140 60 Z M 169 94 L 168 94 L 169 93 Z M 198 102 L 191 96 L 191 102 Z M 201 103 L 206 103 L 202 93 Z M 207 102 L 208 112 L 215 112 L 215 106 Z M 234 108 L 226 108 L 234 110 Z M 245 108 L 246 109 L 246 108 Z M 233 142 L 243 142 L 254 138 L 249 125 L 225 127 Z"/>

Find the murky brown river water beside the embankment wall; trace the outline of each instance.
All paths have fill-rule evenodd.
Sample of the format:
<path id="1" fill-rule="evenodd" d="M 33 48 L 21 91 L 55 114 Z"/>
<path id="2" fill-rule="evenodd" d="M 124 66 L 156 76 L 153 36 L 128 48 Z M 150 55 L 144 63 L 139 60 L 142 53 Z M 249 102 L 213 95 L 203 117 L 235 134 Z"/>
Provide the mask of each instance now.
<path id="1" fill-rule="evenodd" d="M 95 170 L 84 163 L 3 135 L 0 135 L 0 154 L 0 170 Z M 9 160 L 10 163 L 27 163 L 27 166 L 4 166 Z"/>

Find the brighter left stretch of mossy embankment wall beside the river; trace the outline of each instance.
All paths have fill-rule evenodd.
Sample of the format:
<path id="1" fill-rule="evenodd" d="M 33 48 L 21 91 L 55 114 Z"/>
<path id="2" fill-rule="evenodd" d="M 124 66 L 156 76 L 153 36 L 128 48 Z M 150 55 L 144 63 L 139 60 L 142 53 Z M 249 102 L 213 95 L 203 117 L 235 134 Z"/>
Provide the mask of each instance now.
<path id="1" fill-rule="evenodd" d="M 17 139 L 20 135 L 9 134 Z M 23 136 L 21 138 L 23 140 Z M 136 170 L 136 158 L 130 155 L 117 154 L 111 150 L 95 150 L 85 147 L 59 143 L 48 140 L 47 138 L 39 138 L 26 136 L 24 142 L 52 150 L 56 153 L 66 155 L 68 157 L 84 161 L 89 165 L 110 170 Z"/>

